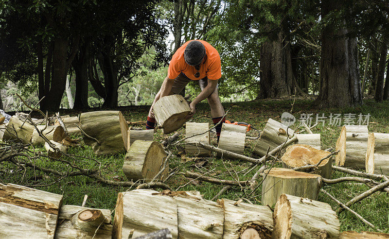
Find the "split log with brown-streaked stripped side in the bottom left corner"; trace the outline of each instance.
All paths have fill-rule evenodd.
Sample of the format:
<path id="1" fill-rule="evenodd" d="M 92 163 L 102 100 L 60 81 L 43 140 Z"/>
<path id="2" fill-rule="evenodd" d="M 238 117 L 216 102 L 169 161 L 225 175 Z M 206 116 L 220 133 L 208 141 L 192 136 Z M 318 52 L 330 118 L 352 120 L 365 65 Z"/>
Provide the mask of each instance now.
<path id="1" fill-rule="evenodd" d="M 0 184 L 0 238 L 53 239 L 62 195 Z"/>

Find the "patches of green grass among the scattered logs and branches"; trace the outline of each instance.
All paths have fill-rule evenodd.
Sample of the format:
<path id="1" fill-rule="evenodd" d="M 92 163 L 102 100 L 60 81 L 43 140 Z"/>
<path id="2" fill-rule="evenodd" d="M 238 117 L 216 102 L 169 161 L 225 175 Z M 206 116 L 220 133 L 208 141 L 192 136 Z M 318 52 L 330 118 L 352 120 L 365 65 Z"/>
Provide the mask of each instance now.
<path id="1" fill-rule="evenodd" d="M 289 100 L 272 100 L 272 101 L 258 101 L 258 102 L 237 102 L 233 103 L 234 106 L 231 107 L 230 113 L 227 116 L 228 120 L 234 121 L 245 121 L 250 123 L 254 128 L 263 129 L 268 118 L 274 120 L 281 120 L 281 114 L 283 112 L 290 112 L 291 110 L 291 101 Z M 311 107 L 310 101 L 301 101 L 296 100 L 293 104 L 293 111 L 291 114 L 296 116 L 297 119 L 300 118 L 300 114 L 313 114 L 314 119 L 316 114 L 325 114 L 329 116 L 330 113 L 333 114 L 360 114 L 371 115 L 369 132 L 380 132 L 380 133 L 389 133 L 389 104 L 387 102 L 376 103 L 371 100 L 365 101 L 364 105 L 356 108 L 332 108 L 319 110 Z M 230 108 L 230 103 L 224 103 L 225 109 Z M 99 109 L 91 109 L 99 110 Z M 131 106 L 131 107 L 119 107 L 119 110 L 122 111 L 126 120 L 137 121 L 145 120 L 148 106 Z M 193 121 L 195 122 L 209 122 L 212 125 L 211 114 L 209 106 L 206 103 L 200 103 L 197 106 L 197 112 Z M 63 111 L 61 114 L 71 114 L 77 115 L 78 112 L 73 111 Z M 314 122 L 313 122 L 314 123 Z M 293 127 L 292 127 L 293 128 Z M 181 136 L 184 135 L 184 129 L 180 129 L 179 132 Z M 324 125 L 319 124 L 313 133 L 321 134 L 321 147 L 322 149 L 335 148 L 336 139 L 340 133 L 340 127 L 336 125 L 329 124 L 329 120 L 326 120 Z M 249 136 L 256 136 L 255 131 L 248 132 Z M 155 134 L 156 140 L 162 140 L 164 137 L 161 135 L 161 132 L 158 131 Z M 256 143 L 256 140 L 246 140 L 245 154 L 251 156 L 253 147 Z M 216 137 L 212 135 L 212 144 L 216 144 Z M 182 152 L 183 148 L 175 148 L 175 153 Z M 72 148 L 69 151 L 70 154 L 78 154 L 93 157 L 102 164 L 102 173 L 107 178 L 112 180 L 123 181 L 125 176 L 122 171 L 123 158 L 124 154 L 118 154 L 114 156 L 95 156 L 89 146 L 82 145 L 81 147 Z M 52 169 L 65 169 L 65 167 L 60 163 L 53 163 L 47 159 L 41 159 L 35 162 L 39 166 L 52 168 Z M 84 159 L 81 161 L 75 161 L 78 166 L 84 168 L 92 169 L 96 168 L 97 164 L 93 160 Z M 196 167 L 197 166 L 197 167 Z M 213 176 L 220 177 L 222 179 L 233 179 L 228 173 L 227 169 L 232 172 L 233 170 L 239 173 L 249 167 L 248 163 L 238 162 L 233 160 L 222 160 L 220 158 L 213 157 L 211 160 L 202 161 L 200 160 L 190 160 L 184 162 L 180 157 L 173 157 L 170 163 L 170 169 L 176 169 L 177 172 L 185 171 L 196 171 L 201 173 L 201 171 L 212 170 Z M 281 167 L 277 164 L 276 167 Z M 233 169 L 233 170 L 232 170 Z M 21 178 L 22 169 L 16 168 L 11 164 L 2 164 L 0 165 L 0 182 L 3 183 L 15 183 L 21 185 L 32 185 L 36 183 L 40 184 L 50 184 L 57 180 L 54 176 L 47 176 L 39 174 L 39 172 L 33 173 L 33 171 L 28 170 L 26 176 Z M 211 175 L 212 175 L 211 173 Z M 248 173 L 246 176 L 243 176 L 243 173 L 240 175 L 240 180 L 248 180 L 253 175 L 254 171 Z M 344 173 L 333 172 L 333 178 L 346 176 Z M 168 184 L 171 188 L 178 188 L 180 185 L 186 184 L 189 182 L 188 179 L 184 178 L 181 174 L 178 174 L 174 177 L 171 177 L 168 180 Z M 180 190 L 198 190 L 201 194 L 204 194 L 206 199 L 211 199 L 216 195 L 220 189 L 223 188 L 219 185 L 214 185 L 210 183 L 197 182 L 190 183 L 187 186 L 180 188 Z M 39 187 L 39 189 L 50 191 L 53 193 L 63 194 L 64 199 L 63 203 L 67 205 L 81 205 L 84 194 L 88 194 L 88 201 L 86 206 L 95 207 L 95 208 L 107 208 L 113 209 L 115 207 L 117 193 L 124 191 L 128 188 L 123 187 L 112 187 L 96 182 L 93 179 L 76 176 L 65 178 L 62 181 L 55 183 L 47 187 Z M 340 183 L 336 185 L 326 185 L 324 189 L 335 196 L 338 200 L 345 203 L 349 201 L 354 196 L 362 193 L 367 190 L 368 187 L 365 185 L 355 184 L 355 183 Z M 250 191 L 246 188 L 235 188 L 229 190 L 221 195 L 223 198 L 228 198 L 231 200 L 245 197 Z M 252 195 L 250 200 L 256 204 L 261 203 L 261 187 L 259 187 L 255 193 Z M 319 194 L 319 201 L 329 203 L 335 210 L 338 206 L 330 200 L 328 196 L 323 193 Z M 352 205 L 351 208 L 359 213 L 366 220 L 380 228 L 381 230 L 388 231 L 389 228 L 389 195 L 388 193 L 377 192 L 371 197 L 364 199 L 363 201 Z M 353 214 L 344 211 L 339 214 L 339 219 L 341 223 L 341 231 L 354 230 L 354 231 L 371 231 L 372 229 L 358 220 Z"/>

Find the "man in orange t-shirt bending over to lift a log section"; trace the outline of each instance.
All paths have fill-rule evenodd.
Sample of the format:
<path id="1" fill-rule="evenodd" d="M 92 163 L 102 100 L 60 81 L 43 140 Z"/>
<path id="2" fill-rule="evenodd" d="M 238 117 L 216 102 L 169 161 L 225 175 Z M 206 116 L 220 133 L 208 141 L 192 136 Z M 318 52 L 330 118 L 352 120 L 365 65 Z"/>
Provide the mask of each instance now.
<path id="1" fill-rule="evenodd" d="M 195 114 L 196 104 L 207 98 L 211 107 L 213 123 L 217 124 L 224 116 L 224 109 L 217 90 L 217 82 L 221 76 L 220 55 L 211 44 L 202 40 L 185 42 L 173 55 L 167 77 L 163 81 L 153 105 L 161 97 L 178 94 L 190 81 L 197 81 L 201 92 L 191 102 L 191 113 L 187 119 L 192 118 Z M 153 105 L 147 117 L 147 129 L 155 128 Z M 225 119 L 222 122 L 225 122 Z M 218 142 L 221 128 L 222 123 L 215 128 Z"/>

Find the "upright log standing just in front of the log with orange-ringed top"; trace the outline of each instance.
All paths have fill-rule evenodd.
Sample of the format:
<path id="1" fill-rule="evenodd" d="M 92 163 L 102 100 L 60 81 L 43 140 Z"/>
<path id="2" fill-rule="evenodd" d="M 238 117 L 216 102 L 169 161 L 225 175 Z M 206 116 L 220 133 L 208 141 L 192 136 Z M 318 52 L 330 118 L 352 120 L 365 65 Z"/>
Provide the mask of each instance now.
<path id="1" fill-rule="evenodd" d="M 320 175 L 318 174 L 272 168 L 264 172 L 262 204 L 275 205 L 283 193 L 317 200 L 319 190 Z"/>

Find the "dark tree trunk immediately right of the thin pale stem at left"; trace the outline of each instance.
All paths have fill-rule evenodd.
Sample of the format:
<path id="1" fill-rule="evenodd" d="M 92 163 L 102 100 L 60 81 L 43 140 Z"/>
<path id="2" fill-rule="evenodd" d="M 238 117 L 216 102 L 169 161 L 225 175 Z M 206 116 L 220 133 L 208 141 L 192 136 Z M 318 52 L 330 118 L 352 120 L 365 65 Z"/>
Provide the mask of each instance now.
<path id="1" fill-rule="evenodd" d="M 72 62 L 76 75 L 76 92 L 74 95 L 74 109 L 88 108 L 88 63 L 89 42 L 80 47 L 80 51 Z"/>

